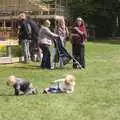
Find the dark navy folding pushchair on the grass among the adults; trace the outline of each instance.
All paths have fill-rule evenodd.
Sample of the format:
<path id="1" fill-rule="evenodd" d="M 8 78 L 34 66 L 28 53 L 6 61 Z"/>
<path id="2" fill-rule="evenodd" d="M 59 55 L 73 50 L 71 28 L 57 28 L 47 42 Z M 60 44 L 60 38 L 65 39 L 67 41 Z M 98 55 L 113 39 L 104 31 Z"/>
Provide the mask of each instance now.
<path id="1" fill-rule="evenodd" d="M 55 61 L 59 61 L 59 59 L 62 59 L 62 63 L 63 65 L 68 64 L 71 60 L 73 60 L 75 62 L 75 64 L 77 64 L 77 68 L 81 69 L 82 66 L 81 64 L 72 56 L 68 53 L 68 51 L 64 48 L 64 46 L 62 45 L 62 41 L 60 40 L 60 38 L 58 39 L 54 39 L 54 45 L 55 48 L 57 50 L 56 52 L 56 57 L 55 57 Z"/>

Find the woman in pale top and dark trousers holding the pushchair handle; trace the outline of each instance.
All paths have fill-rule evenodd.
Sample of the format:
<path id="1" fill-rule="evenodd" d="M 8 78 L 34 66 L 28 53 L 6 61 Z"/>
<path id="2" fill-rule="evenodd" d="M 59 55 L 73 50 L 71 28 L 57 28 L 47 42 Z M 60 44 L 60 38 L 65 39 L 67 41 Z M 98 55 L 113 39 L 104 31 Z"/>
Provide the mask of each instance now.
<path id="1" fill-rule="evenodd" d="M 44 22 L 44 25 L 40 29 L 39 39 L 38 39 L 39 47 L 42 49 L 42 53 L 43 53 L 41 68 L 46 68 L 46 69 L 51 69 L 49 47 L 52 45 L 52 40 L 59 37 L 57 34 L 52 33 L 49 27 L 50 27 L 50 21 L 46 20 Z"/>

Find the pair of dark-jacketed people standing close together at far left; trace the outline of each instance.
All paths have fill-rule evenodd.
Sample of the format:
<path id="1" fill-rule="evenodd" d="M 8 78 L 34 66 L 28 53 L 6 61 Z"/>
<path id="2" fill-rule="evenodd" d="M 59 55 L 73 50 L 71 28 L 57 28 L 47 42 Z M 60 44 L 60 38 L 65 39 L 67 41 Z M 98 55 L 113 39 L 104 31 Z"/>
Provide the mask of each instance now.
<path id="1" fill-rule="evenodd" d="M 21 45 L 21 53 L 25 63 L 33 60 L 33 49 L 37 48 L 37 41 L 39 36 L 39 26 L 34 20 L 26 16 L 25 13 L 21 13 L 18 17 L 19 31 L 18 39 L 19 45 Z"/>

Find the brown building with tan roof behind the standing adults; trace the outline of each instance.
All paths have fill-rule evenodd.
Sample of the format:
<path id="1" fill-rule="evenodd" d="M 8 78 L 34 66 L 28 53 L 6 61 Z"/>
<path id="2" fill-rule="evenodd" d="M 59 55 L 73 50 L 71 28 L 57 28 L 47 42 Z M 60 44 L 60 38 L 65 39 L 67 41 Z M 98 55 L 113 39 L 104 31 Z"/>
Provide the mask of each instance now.
<path id="1" fill-rule="evenodd" d="M 38 22 L 44 19 L 50 19 L 54 22 L 55 19 L 59 19 L 61 15 L 67 18 L 65 7 L 61 3 L 64 0 L 50 0 L 49 2 L 44 3 L 50 11 L 42 11 L 39 8 L 39 5 L 42 5 L 41 3 L 34 4 L 39 3 L 39 1 L 40 0 L 0 0 L 1 35 L 5 35 L 3 34 L 4 32 L 9 32 L 10 36 L 17 36 L 17 15 L 19 12 L 32 11 L 32 13 L 29 13 L 30 16 Z"/>

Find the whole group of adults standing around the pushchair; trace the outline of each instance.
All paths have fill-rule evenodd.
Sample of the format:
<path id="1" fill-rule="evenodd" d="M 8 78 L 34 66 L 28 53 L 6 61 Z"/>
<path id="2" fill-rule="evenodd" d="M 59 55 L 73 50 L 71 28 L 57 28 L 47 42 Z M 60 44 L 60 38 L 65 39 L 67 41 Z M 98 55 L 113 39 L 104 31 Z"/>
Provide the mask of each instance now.
<path id="1" fill-rule="evenodd" d="M 19 15 L 19 44 L 21 45 L 24 62 L 27 63 L 34 58 L 34 49 L 37 49 L 38 57 L 43 54 L 41 68 L 54 69 L 56 67 L 57 48 L 55 42 L 60 40 L 65 47 L 66 40 L 70 39 L 72 44 L 72 56 L 85 68 L 85 42 L 87 31 L 82 18 L 77 18 L 70 32 L 66 27 L 64 17 L 58 21 L 54 31 L 50 30 L 51 22 L 45 20 L 44 24 L 39 25 L 28 18 L 25 13 Z M 52 52 L 50 51 L 52 47 Z M 51 58 L 52 53 L 52 58 Z M 57 61 L 59 67 L 63 67 L 62 58 Z M 78 68 L 73 60 L 73 68 Z"/>

